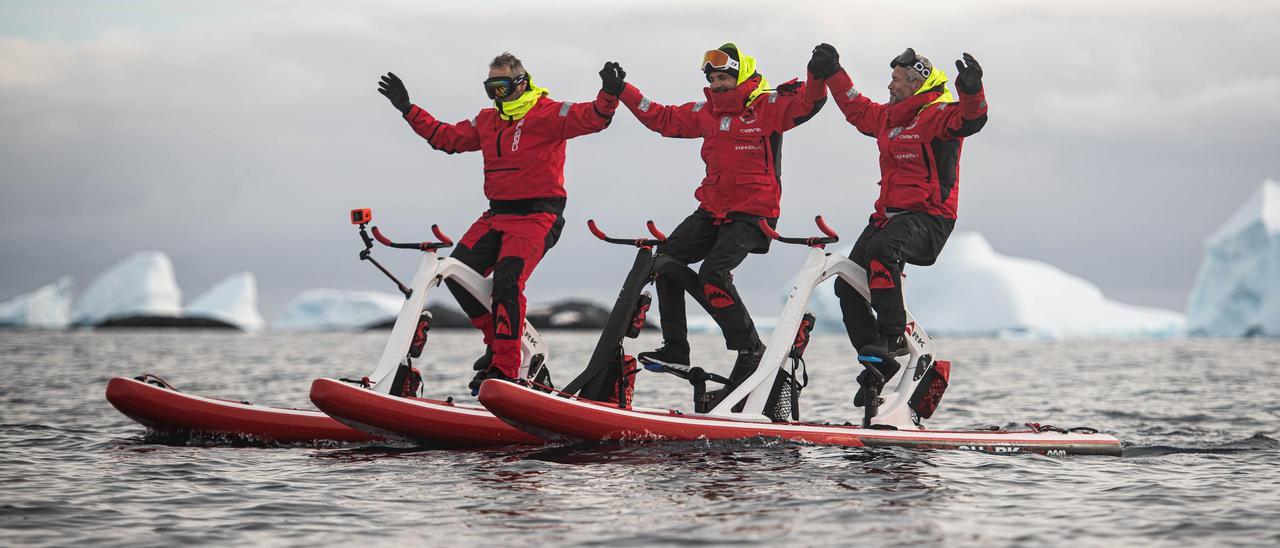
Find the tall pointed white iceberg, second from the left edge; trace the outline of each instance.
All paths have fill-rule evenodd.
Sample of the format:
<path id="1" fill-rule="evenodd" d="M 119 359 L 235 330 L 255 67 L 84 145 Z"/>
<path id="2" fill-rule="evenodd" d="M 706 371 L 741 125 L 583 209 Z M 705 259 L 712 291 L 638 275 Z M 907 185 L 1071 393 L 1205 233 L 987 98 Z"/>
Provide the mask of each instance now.
<path id="1" fill-rule="evenodd" d="M 182 291 L 173 262 L 160 251 L 141 251 L 97 277 L 76 301 L 72 323 L 99 325 L 133 316 L 177 318 Z"/>

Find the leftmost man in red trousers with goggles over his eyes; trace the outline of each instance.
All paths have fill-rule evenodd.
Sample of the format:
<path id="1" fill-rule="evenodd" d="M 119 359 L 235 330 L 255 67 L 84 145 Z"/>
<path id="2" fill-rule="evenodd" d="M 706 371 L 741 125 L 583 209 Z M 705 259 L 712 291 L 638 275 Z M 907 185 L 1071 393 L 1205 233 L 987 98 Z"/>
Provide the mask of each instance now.
<path id="1" fill-rule="evenodd" d="M 436 120 L 410 102 L 396 74 L 388 73 L 379 83 L 379 92 L 433 149 L 448 154 L 479 150 L 484 155 L 489 210 L 451 256 L 477 273 L 493 274 L 493 306 L 445 280 L 488 346 L 476 361 L 480 373 L 471 383 L 472 392 L 488 378 L 520 376 L 525 280 L 564 227 L 564 143 L 607 128 L 622 92 L 616 63 L 605 64 L 600 79 L 602 90 L 591 102 L 556 101 L 532 82 L 520 59 L 503 52 L 489 64 L 489 79 L 484 81 L 493 108 L 456 124 Z"/>

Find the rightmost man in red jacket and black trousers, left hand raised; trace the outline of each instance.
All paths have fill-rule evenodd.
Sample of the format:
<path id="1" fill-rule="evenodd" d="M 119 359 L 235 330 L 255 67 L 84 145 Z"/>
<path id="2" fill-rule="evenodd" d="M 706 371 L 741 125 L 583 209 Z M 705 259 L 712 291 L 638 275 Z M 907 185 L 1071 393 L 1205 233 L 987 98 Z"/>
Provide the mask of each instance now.
<path id="1" fill-rule="evenodd" d="M 890 61 L 890 102 L 882 105 L 854 87 L 835 47 L 822 44 L 814 55 L 835 73 L 827 87 L 845 119 L 876 137 L 881 151 L 879 200 L 850 254 L 867 269 L 870 309 L 844 280 L 836 282 L 836 294 L 859 360 L 874 364 L 887 380 L 899 369 L 893 357 L 906 353 L 902 265 L 937 260 L 956 222 L 964 138 L 987 123 L 982 67 L 969 54 L 956 61 L 957 104 L 942 69 L 908 47 Z"/>

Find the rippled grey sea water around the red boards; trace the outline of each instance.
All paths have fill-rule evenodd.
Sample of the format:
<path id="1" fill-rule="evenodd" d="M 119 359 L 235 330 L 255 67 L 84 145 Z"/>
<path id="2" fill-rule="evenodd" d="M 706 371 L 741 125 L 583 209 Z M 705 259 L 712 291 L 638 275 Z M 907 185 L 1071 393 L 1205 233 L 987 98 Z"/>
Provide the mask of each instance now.
<path id="1" fill-rule="evenodd" d="M 1125 456 L 989 456 L 750 440 L 426 451 L 148 443 L 104 398 L 186 392 L 310 407 L 385 333 L 0 333 L 0 545 L 1280 544 L 1280 341 L 940 339 L 933 428 L 1096 426 Z M 558 384 L 595 337 L 549 337 Z M 634 350 L 657 341 L 645 335 Z M 479 337 L 435 332 L 429 396 L 462 396 Z M 694 341 L 695 360 L 731 356 Z M 847 342 L 809 347 L 803 414 L 856 420 Z M 689 407 L 643 374 L 640 402 Z"/>

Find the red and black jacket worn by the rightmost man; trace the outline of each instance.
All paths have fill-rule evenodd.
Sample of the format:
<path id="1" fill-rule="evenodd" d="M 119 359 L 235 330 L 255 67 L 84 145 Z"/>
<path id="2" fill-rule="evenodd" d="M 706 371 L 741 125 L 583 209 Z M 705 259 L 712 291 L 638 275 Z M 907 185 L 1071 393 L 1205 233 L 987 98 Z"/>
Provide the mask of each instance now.
<path id="1" fill-rule="evenodd" d="M 983 91 L 960 93 L 959 104 L 929 105 L 941 96 L 934 91 L 881 105 L 859 93 L 845 70 L 827 79 L 827 86 L 845 119 L 879 145 L 881 196 L 872 218 L 883 222 L 895 213 L 919 211 L 955 219 L 960 149 L 965 137 L 987 123 Z"/>

